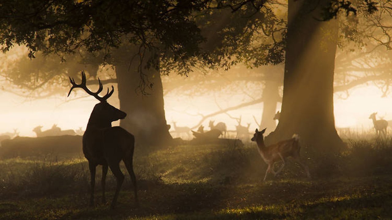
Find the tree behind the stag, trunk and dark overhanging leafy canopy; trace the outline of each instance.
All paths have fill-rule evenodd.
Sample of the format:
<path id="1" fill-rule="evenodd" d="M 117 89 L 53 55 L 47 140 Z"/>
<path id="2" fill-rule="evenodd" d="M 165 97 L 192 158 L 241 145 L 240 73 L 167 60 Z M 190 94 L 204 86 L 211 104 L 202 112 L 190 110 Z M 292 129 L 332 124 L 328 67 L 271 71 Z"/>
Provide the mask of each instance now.
<path id="1" fill-rule="evenodd" d="M 82 50 L 102 58 L 99 64 L 113 65 L 120 107 L 132 115 L 121 122 L 122 126 L 150 145 L 171 139 L 160 74 L 176 70 L 186 75 L 197 63 L 228 68 L 235 63 L 230 56 L 250 42 L 237 34 L 254 32 L 257 28 L 253 27 L 268 22 L 271 13 L 265 5 L 263 0 L 4 2 L 0 8 L 0 44 L 3 51 L 15 44 L 26 45 L 29 58 L 38 51 L 69 58 L 63 54 Z M 235 22 L 228 28 L 218 19 L 212 20 L 220 16 Z M 283 50 L 268 52 L 271 47 L 263 47 L 264 56 L 272 61 L 280 54 L 281 59 Z M 93 71 L 90 74 L 94 76 Z"/>

